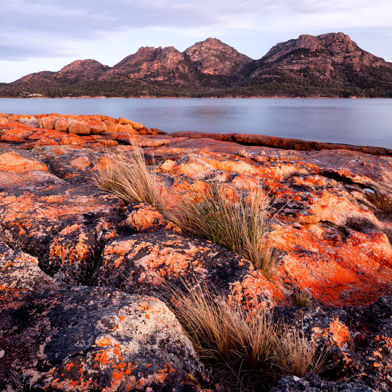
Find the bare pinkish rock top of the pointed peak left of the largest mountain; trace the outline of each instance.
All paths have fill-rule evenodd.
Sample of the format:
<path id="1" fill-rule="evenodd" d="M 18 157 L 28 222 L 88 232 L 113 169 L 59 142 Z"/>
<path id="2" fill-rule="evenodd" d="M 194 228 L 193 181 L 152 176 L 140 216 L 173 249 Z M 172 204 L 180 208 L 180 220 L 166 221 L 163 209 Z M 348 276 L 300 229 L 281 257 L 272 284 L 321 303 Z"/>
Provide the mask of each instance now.
<path id="1" fill-rule="evenodd" d="M 184 52 L 199 71 L 212 75 L 230 75 L 240 71 L 252 59 L 217 38 L 196 42 Z"/>

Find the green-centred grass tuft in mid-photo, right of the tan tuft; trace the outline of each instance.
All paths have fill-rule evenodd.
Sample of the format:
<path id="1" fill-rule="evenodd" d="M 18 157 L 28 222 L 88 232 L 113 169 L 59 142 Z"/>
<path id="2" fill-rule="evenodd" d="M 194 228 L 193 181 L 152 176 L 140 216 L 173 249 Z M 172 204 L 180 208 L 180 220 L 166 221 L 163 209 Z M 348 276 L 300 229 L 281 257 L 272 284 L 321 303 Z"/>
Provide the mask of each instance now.
<path id="1" fill-rule="evenodd" d="M 270 277 L 280 254 L 268 240 L 270 205 L 263 193 L 233 194 L 214 178 L 203 193 L 183 198 L 168 211 L 185 232 L 205 237 L 247 258 Z"/>

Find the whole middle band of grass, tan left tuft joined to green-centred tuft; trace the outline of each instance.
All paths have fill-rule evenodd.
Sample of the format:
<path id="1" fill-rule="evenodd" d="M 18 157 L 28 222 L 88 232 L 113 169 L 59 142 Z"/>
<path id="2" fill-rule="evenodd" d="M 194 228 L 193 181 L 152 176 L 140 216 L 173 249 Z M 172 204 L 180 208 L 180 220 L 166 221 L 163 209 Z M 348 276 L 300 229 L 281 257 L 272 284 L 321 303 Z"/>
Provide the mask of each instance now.
<path id="1" fill-rule="evenodd" d="M 132 147 L 128 154 L 107 154 L 102 169 L 92 175 L 94 185 L 129 203 L 151 204 L 183 232 L 231 249 L 271 276 L 280 254 L 268 240 L 274 216 L 260 190 L 229 192 L 215 176 L 205 192 L 174 194 L 159 183 L 136 143 Z"/>

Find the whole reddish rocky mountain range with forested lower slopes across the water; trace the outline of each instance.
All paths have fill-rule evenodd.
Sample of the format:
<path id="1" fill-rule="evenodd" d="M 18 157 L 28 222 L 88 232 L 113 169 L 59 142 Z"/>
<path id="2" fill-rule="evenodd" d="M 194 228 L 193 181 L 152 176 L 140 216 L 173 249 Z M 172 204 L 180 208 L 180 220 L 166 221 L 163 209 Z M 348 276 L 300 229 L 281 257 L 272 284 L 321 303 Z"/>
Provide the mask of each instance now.
<path id="1" fill-rule="evenodd" d="M 392 63 L 344 33 L 300 35 L 259 60 L 207 38 L 183 52 L 141 47 L 113 67 L 76 60 L 0 83 L 0 96 L 392 98 Z"/>

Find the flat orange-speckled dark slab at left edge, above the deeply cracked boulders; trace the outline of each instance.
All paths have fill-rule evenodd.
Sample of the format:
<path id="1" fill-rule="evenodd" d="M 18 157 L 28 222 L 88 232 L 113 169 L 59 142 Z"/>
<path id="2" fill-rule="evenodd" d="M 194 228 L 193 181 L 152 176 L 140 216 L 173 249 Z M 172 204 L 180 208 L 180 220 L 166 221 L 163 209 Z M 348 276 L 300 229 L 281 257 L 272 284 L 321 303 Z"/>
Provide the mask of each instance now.
<path id="1" fill-rule="evenodd" d="M 40 188 L 37 192 L 28 188 L 0 191 L 0 239 L 33 255 L 49 249 L 50 241 L 68 225 L 89 223 L 89 216 L 119 219 L 122 214 L 121 200 L 97 193 L 91 185 L 61 181 L 47 187 L 40 184 Z"/>

